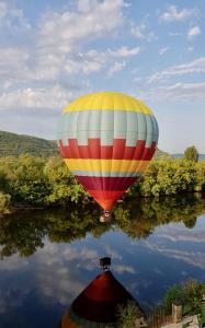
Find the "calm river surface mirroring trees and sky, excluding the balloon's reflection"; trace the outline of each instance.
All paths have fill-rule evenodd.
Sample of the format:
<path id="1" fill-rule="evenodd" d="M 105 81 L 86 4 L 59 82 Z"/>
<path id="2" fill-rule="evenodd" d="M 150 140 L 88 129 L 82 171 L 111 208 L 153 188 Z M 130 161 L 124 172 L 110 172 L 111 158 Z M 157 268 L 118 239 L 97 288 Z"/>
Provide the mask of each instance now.
<path id="1" fill-rule="evenodd" d="M 64 311 L 112 257 L 115 277 L 145 308 L 173 283 L 205 281 L 205 199 L 30 211 L 0 220 L 0 328 L 57 327 Z"/>

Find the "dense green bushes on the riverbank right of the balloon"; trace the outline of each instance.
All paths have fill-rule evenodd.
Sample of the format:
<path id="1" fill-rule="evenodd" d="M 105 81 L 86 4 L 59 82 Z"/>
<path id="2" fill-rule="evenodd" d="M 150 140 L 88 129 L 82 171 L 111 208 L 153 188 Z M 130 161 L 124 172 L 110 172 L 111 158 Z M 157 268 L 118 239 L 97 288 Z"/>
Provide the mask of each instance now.
<path id="1" fill-rule="evenodd" d="M 205 162 L 192 162 L 184 159 L 163 157 L 152 161 L 139 186 L 130 194 L 143 196 L 175 195 L 187 191 L 202 191 L 205 186 Z M 136 190 L 138 189 L 138 190 Z"/>

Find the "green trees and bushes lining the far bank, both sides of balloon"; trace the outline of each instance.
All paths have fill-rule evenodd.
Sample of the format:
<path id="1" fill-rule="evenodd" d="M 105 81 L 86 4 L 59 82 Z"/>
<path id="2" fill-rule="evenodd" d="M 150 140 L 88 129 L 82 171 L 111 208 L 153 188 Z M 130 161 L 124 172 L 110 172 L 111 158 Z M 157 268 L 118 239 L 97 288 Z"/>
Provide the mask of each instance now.
<path id="1" fill-rule="evenodd" d="M 197 162 L 194 147 L 184 159 L 161 156 L 152 160 L 141 177 L 124 198 L 161 198 L 205 190 L 205 161 Z M 88 203 L 90 196 L 75 179 L 58 156 L 31 154 L 0 157 L 0 213 L 15 209 L 67 207 Z"/>

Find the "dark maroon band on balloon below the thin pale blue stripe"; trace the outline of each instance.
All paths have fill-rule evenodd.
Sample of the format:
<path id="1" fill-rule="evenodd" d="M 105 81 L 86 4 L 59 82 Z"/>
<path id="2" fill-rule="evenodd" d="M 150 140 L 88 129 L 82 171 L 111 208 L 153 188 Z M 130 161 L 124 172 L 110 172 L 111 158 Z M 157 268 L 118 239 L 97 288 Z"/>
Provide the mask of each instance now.
<path id="1" fill-rule="evenodd" d="M 126 190 L 136 180 L 136 177 L 96 177 L 76 176 L 77 179 L 89 190 Z"/>

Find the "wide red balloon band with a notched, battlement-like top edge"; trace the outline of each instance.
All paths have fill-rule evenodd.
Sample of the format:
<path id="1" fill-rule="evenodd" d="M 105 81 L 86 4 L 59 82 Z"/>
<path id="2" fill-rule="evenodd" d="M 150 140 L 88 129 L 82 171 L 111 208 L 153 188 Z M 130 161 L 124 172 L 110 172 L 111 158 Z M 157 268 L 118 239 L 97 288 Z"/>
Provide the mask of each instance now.
<path id="1" fill-rule="evenodd" d="M 100 139 L 88 139 L 88 145 L 79 145 L 77 139 L 69 139 L 67 145 L 61 140 L 58 145 L 64 159 L 150 161 L 156 151 L 156 142 L 146 148 L 145 140 L 138 140 L 135 147 L 126 145 L 125 139 L 114 139 L 113 145 L 101 145 Z"/>

